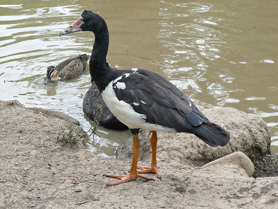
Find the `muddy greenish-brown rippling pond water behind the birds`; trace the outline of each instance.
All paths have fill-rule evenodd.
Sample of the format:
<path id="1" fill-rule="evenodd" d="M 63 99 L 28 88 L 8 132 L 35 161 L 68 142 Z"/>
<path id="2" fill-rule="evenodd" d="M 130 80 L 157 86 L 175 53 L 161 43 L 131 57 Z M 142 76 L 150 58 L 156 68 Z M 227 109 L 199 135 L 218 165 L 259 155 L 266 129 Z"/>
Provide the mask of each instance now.
<path id="1" fill-rule="evenodd" d="M 90 9 L 108 24 L 111 67 L 148 69 L 199 105 L 260 115 L 272 153 L 278 152 L 277 0 L 33 2 L 1 1 L 0 99 L 62 111 L 88 130 L 82 101 L 91 85 L 89 71 L 56 84 L 43 85 L 43 79 L 47 66 L 90 54 L 93 33 L 58 35 Z M 105 157 L 113 157 L 131 135 L 101 127 L 99 133 L 87 145 Z"/>

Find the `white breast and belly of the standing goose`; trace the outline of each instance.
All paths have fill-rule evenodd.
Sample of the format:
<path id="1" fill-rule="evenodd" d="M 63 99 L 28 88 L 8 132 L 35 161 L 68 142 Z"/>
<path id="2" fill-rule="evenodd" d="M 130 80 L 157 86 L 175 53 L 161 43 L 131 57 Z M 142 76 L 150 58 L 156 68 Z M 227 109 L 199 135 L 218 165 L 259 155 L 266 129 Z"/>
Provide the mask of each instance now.
<path id="1" fill-rule="evenodd" d="M 126 103 L 125 101 L 118 100 L 112 84 L 113 81 L 111 81 L 108 86 L 106 86 L 106 88 L 101 93 L 101 96 L 106 106 L 113 113 L 113 115 L 118 118 L 119 121 L 131 129 L 140 128 L 144 130 L 160 132 L 176 132 L 174 128 L 147 123 L 145 121 L 145 119 L 147 119 L 146 115 L 135 112 L 130 104 Z"/>

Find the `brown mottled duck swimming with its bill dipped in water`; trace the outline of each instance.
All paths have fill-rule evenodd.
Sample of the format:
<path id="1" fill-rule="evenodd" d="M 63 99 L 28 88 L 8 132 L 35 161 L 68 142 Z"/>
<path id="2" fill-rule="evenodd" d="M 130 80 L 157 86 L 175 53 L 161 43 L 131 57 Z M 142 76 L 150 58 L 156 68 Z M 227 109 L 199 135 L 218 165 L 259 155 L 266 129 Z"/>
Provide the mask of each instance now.
<path id="1" fill-rule="evenodd" d="M 79 76 L 82 71 L 87 69 L 87 61 L 90 55 L 82 54 L 64 60 L 56 67 L 49 66 L 46 71 L 46 78 L 43 84 L 53 81 L 66 81 Z"/>

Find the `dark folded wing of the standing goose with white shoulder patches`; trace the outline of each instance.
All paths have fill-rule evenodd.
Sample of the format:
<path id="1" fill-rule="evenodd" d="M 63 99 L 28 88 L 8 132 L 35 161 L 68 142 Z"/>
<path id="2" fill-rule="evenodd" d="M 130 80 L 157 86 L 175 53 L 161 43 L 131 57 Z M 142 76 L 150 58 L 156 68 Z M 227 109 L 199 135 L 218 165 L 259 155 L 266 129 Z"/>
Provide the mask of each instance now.
<path id="1" fill-rule="evenodd" d="M 187 96 L 151 71 L 127 71 L 113 83 L 113 89 L 119 100 L 130 104 L 137 113 L 146 115 L 148 123 L 188 132 L 191 126 L 207 120 Z"/>

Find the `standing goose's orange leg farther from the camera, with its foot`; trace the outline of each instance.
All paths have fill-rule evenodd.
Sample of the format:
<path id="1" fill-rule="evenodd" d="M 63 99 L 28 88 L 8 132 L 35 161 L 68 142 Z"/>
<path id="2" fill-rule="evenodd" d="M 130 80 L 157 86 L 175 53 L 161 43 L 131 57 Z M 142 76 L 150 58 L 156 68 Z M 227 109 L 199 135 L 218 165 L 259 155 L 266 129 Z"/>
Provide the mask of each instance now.
<path id="1" fill-rule="evenodd" d="M 158 179 L 162 179 L 158 172 L 158 165 L 156 161 L 156 150 L 157 150 L 157 132 L 153 131 L 152 132 L 152 137 L 150 138 L 151 146 L 152 146 L 152 163 L 151 167 L 148 166 L 137 166 L 137 168 L 140 168 L 142 170 L 138 170 L 138 173 L 155 173 L 157 174 Z"/>

